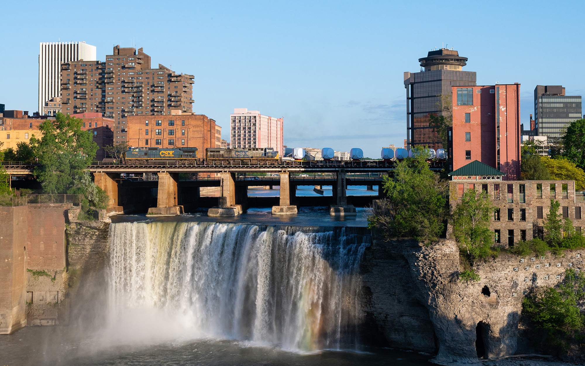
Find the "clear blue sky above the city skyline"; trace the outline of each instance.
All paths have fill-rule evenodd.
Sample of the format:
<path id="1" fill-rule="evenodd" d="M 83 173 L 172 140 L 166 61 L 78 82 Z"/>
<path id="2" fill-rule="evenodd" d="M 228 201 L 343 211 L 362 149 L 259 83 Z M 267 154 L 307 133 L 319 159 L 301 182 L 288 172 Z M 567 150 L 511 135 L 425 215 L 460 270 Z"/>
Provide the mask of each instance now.
<path id="1" fill-rule="evenodd" d="M 36 111 L 39 42 L 143 47 L 194 74 L 194 111 L 224 127 L 233 108 L 284 117 L 290 147 L 401 146 L 404 71 L 455 47 L 477 84 L 521 83 L 528 128 L 536 84 L 583 95 L 582 1 L 11 1 L 0 12 L 0 103 Z"/>

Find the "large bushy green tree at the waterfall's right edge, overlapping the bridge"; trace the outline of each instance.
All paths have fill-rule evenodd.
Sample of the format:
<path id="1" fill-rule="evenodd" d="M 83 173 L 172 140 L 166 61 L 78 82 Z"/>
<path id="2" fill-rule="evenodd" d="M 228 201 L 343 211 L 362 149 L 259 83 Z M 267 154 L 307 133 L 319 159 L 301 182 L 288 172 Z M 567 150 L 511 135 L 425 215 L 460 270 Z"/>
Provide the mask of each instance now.
<path id="1" fill-rule="evenodd" d="M 445 228 L 447 182 L 429 169 L 428 155 L 423 151 L 415 149 L 415 158 L 397 163 L 394 177 L 384 178 L 387 199 L 374 208 L 368 220 L 370 228 L 377 228 L 387 238 L 428 242 L 436 240 Z"/>

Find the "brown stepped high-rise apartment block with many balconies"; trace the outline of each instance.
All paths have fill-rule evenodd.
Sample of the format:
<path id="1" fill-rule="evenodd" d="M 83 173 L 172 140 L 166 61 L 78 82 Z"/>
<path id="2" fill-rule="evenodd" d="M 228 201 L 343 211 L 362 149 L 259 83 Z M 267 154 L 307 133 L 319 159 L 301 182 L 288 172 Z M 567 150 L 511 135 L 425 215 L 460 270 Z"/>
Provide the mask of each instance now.
<path id="1" fill-rule="evenodd" d="M 115 121 L 114 142 L 127 141 L 126 118 L 192 112 L 194 76 L 175 73 L 140 49 L 113 47 L 106 61 L 75 61 L 61 66 L 63 113 L 101 112 Z"/>

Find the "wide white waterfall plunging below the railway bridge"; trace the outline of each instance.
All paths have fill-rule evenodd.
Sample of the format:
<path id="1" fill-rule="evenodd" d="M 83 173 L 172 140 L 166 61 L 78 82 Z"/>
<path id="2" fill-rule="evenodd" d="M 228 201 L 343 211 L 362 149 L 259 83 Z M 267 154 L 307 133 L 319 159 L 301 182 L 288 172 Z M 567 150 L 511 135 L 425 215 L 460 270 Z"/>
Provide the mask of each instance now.
<path id="1" fill-rule="evenodd" d="M 357 272 L 370 238 L 347 230 L 111 224 L 110 321 L 142 323 L 135 333 L 174 324 L 170 333 L 285 350 L 356 348 L 363 321 Z"/>

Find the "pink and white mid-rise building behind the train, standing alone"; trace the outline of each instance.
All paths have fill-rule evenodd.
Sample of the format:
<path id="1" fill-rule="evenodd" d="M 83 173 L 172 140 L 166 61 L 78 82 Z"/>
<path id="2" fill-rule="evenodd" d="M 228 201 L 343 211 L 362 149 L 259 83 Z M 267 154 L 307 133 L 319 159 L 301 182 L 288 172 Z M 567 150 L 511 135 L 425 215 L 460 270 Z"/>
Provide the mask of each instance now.
<path id="1" fill-rule="evenodd" d="M 259 111 L 234 108 L 230 114 L 232 149 L 274 148 L 284 153 L 283 118 L 261 115 Z"/>

